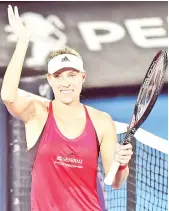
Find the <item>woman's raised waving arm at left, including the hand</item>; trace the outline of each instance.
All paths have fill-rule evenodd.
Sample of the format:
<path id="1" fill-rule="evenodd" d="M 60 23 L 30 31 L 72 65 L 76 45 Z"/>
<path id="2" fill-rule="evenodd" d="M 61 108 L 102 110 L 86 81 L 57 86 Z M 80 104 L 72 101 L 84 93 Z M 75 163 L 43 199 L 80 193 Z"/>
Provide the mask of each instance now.
<path id="1" fill-rule="evenodd" d="M 20 96 L 18 94 L 18 85 L 28 49 L 30 34 L 19 18 L 17 7 L 15 7 L 15 12 L 13 12 L 11 6 L 8 7 L 8 19 L 13 31 L 18 37 L 18 42 L 4 75 L 1 98 L 11 115 L 27 122 L 29 115 L 34 112 L 33 100 L 32 98 Z"/>

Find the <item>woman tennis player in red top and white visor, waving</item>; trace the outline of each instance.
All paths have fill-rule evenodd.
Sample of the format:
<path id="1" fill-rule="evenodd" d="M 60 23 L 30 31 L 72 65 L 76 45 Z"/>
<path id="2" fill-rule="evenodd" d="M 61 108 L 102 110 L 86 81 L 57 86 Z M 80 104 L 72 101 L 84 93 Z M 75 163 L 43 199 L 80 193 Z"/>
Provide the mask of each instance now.
<path id="1" fill-rule="evenodd" d="M 132 156 L 131 144 L 117 143 L 109 114 L 80 102 L 86 79 L 78 52 L 65 48 L 48 60 L 47 80 L 54 100 L 20 96 L 18 84 L 30 41 L 30 32 L 18 9 L 8 6 L 8 18 L 18 41 L 7 67 L 1 98 L 11 115 L 25 124 L 32 156 L 31 211 L 101 211 L 96 175 L 100 152 L 105 174 L 112 162 L 121 166 L 112 187 L 125 182 Z"/>

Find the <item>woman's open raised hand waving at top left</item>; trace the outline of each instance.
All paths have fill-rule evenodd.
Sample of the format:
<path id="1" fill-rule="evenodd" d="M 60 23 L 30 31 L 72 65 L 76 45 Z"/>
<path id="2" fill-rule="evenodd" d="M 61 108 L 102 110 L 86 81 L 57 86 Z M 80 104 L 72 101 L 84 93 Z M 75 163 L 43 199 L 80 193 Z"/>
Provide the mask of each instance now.
<path id="1" fill-rule="evenodd" d="M 28 43 L 30 40 L 30 30 L 22 23 L 17 6 L 13 9 L 11 5 L 8 5 L 8 20 L 18 40 Z"/>

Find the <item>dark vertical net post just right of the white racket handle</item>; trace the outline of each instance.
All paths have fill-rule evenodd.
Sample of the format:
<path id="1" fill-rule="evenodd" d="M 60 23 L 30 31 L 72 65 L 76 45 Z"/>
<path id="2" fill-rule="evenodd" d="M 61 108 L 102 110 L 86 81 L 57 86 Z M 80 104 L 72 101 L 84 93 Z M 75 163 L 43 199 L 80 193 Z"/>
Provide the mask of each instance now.
<path id="1" fill-rule="evenodd" d="M 127 178 L 127 211 L 136 211 L 136 139 L 131 139 L 133 155 L 129 163 Z"/>

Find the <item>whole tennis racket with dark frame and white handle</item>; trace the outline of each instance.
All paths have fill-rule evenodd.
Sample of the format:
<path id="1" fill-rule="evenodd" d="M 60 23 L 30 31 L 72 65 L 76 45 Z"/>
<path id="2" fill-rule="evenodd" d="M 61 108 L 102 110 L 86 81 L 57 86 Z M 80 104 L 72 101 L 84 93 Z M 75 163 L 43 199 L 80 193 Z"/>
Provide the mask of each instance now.
<path id="1" fill-rule="evenodd" d="M 131 142 L 135 132 L 150 114 L 164 83 L 168 68 L 167 52 L 160 50 L 154 57 L 140 87 L 131 123 L 127 129 L 123 144 Z M 104 183 L 112 185 L 120 163 L 112 163 Z"/>

